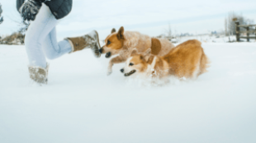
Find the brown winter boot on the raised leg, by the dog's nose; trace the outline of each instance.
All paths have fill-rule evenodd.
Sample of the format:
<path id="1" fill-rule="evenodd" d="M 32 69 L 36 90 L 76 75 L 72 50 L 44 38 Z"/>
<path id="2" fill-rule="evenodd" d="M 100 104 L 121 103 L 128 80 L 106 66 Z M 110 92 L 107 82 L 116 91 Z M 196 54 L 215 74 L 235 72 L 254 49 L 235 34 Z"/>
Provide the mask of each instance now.
<path id="1" fill-rule="evenodd" d="M 96 30 L 92 30 L 88 35 L 81 37 L 67 38 L 72 46 L 72 52 L 82 50 L 83 48 L 92 48 L 92 52 L 97 58 L 101 57 L 99 49 L 101 48 Z"/>

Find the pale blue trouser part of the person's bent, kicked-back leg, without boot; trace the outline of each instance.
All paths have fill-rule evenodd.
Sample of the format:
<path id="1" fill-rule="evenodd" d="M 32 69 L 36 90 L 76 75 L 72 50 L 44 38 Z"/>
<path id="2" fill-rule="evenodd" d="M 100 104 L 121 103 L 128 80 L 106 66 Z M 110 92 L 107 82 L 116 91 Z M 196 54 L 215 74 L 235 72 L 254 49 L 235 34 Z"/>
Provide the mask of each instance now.
<path id="1" fill-rule="evenodd" d="M 64 55 L 65 53 L 71 53 L 72 47 L 68 40 L 62 40 L 57 43 L 56 28 L 50 31 L 50 34 L 45 37 L 43 42 L 43 48 L 46 58 L 55 59 Z"/>

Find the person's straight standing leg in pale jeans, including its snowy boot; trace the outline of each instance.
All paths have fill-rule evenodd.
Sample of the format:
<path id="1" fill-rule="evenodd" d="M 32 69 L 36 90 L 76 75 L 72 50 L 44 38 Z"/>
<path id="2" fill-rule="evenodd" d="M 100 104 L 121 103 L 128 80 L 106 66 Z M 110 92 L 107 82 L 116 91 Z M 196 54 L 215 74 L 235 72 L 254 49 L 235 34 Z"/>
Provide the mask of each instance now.
<path id="1" fill-rule="evenodd" d="M 31 21 L 31 25 L 29 25 L 26 31 L 25 46 L 29 59 L 28 70 L 31 79 L 38 83 L 47 83 L 49 67 L 45 60 L 42 43 L 50 31 L 55 28 L 57 22 L 49 7 L 43 4 L 36 16 L 36 20 Z"/>

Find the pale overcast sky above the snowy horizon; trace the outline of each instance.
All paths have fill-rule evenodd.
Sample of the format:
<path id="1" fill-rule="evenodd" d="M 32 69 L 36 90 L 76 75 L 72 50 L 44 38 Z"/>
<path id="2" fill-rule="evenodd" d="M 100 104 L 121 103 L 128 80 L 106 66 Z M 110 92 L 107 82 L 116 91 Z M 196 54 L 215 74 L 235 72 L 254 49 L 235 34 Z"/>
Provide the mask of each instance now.
<path id="1" fill-rule="evenodd" d="M 15 0 L 0 0 L 4 22 L 0 35 L 17 31 L 21 21 Z M 58 39 L 83 35 L 98 30 L 100 38 L 110 33 L 111 28 L 121 25 L 125 30 L 138 30 L 156 36 L 164 33 L 170 23 L 173 33 L 206 33 L 224 30 L 228 12 L 243 14 L 256 22 L 255 0 L 73 0 L 69 16 L 59 21 Z"/>

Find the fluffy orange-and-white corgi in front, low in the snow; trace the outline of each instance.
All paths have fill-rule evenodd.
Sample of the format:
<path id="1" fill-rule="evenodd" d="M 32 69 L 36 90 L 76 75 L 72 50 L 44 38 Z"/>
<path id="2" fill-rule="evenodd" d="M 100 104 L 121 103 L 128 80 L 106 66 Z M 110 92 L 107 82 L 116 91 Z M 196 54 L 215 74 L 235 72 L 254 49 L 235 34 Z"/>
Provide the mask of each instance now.
<path id="1" fill-rule="evenodd" d="M 137 73 L 158 78 L 171 75 L 178 78 L 196 78 L 206 72 L 209 63 L 201 48 L 201 42 L 196 39 L 179 44 L 164 56 L 150 53 L 150 49 L 145 53 L 138 53 L 137 49 L 133 49 L 126 61 L 126 67 L 121 71 L 125 76 Z"/>

